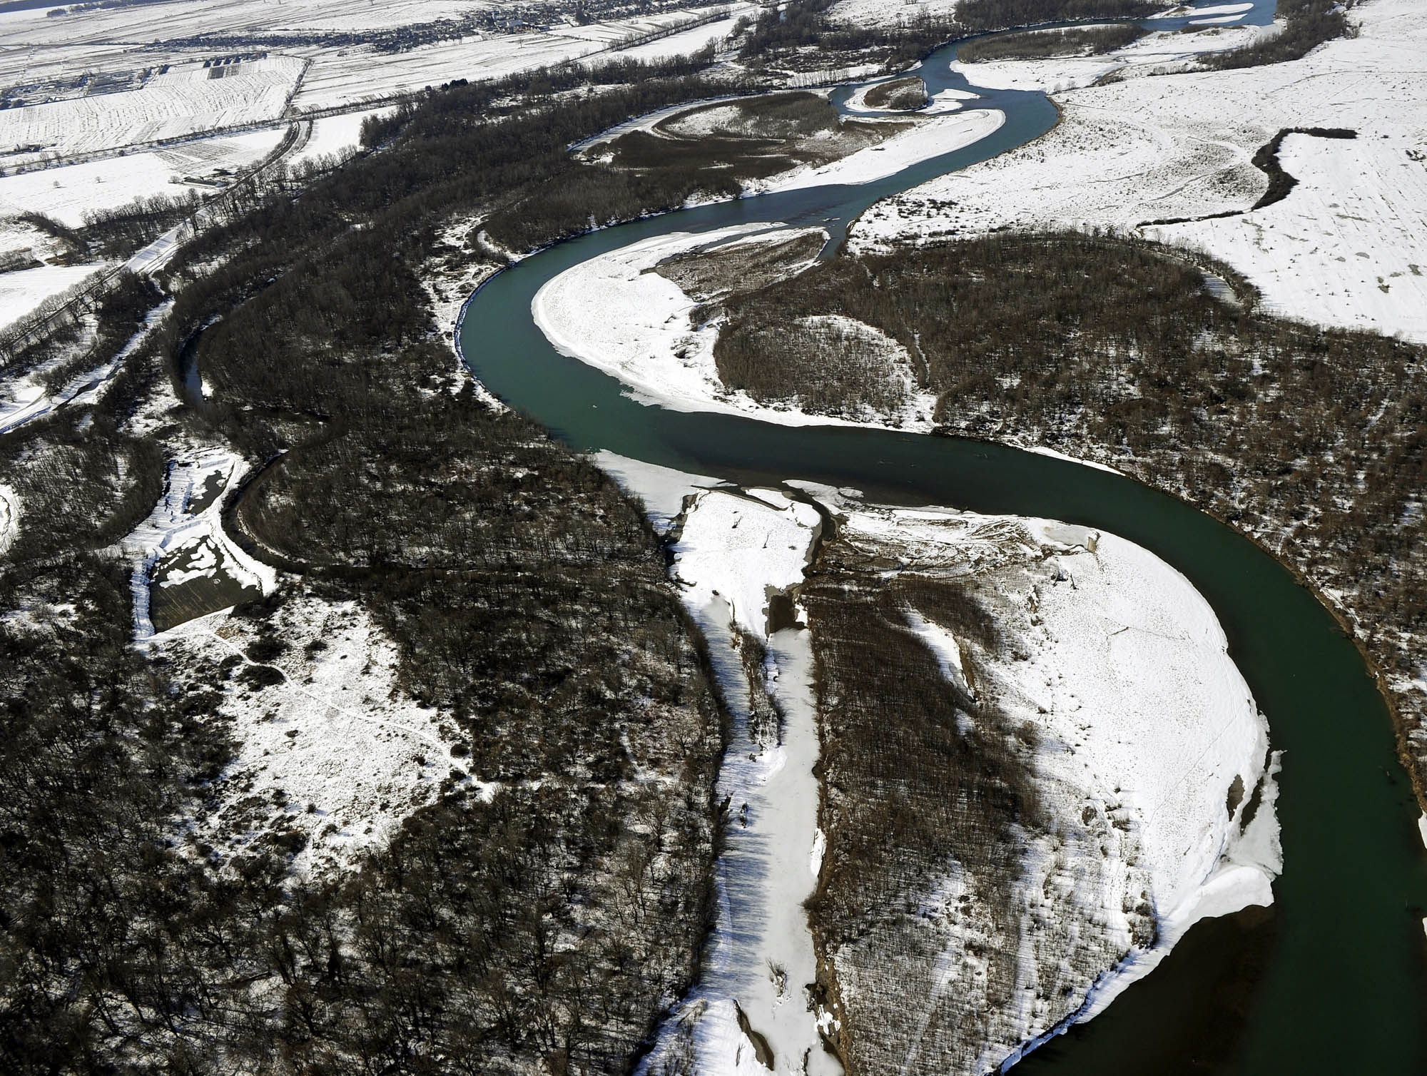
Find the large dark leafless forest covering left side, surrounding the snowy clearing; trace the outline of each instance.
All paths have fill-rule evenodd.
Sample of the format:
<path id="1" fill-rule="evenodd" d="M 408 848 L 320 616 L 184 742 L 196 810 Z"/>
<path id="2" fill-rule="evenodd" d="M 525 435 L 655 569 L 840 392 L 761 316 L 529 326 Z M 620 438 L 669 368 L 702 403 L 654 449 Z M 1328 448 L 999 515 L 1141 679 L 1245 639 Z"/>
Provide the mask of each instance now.
<path id="1" fill-rule="evenodd" d="M 692 982 L 722 753 L 696 639 L 638 508 L 448 391 L 417 274 L 454 211 L 582 173 L 569 143 L 709 96 L 696 70 L 432 96 L 380 153 L 186 248 L 173 315 L 98 405 L 0 440 L 27 509 L 0 599 L 39 616 L 0 621 L 0 1069 L 624 1072 Z M 604 77 L 635 84 L 565 100 Z M 572 204 L 585 220 L 659 197 L 622 181 Z M 110 304 L 101 347 L 157 303 L 140 293 Z M 208 402 L 137 435 L 186 352 Z M 237 614 L 264 654 L 285 645 L 284 602 L 358 602 L 398 641 L 402 688 L 450 714 L 452 753 L 502 792 L 444 781 L 347 878 L 288 875 L 303 836 L 283 803 L 257 806 L 273 825 L 234 859 L 184 838 L 234 752 L 218 702 L 260 705 L 263 681 L 146 661 L 128 567 L 101 551 L 160 498 L 186 428 L 260 467 L 228 527 L 293 574 Z"/>

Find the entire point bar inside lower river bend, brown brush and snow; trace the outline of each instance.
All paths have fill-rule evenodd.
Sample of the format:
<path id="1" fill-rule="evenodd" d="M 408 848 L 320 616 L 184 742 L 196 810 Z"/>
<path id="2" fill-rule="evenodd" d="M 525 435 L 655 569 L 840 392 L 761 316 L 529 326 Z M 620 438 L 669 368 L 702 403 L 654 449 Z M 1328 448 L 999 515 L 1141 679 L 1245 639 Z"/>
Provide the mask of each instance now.
<path id="1" fill-rule="evenodd" d="M 870 886 L 843 873 L 819 899 L 846 909 L 821 928 L 856 1069 L 993 1070 L 1096 1016 L 1192 923 L 1273 902 L 1267 724 L 1179 572 L 1082 527 L 813 492 L 839 519 L 806 598 L 819 669 L 843 685 L 822 701 L 828 856 L 892 872 L 898 893 L 863 913 Z M 850 649 L 825 634 L 849 622 Z M 858 716 L 863 649 L 902 662 L 886 686 L 913 709 Z M 919 761 L 878 762 L 892 743 Z M 938 829 L 869 861 L 856 819 L 898 796 Z"/>

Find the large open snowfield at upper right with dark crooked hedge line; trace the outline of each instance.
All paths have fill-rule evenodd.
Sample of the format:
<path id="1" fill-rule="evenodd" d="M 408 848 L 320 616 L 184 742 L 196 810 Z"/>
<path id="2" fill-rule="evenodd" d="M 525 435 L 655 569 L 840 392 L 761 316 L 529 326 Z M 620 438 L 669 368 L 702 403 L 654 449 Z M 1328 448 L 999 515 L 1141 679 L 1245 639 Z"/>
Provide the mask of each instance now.
<path id="1" fill-rule="evenodd" d="M 879 203 L 850 244 L 1247 210 L 1267 186 L 1250 158 L 1280 128 L 1343 127 L 1357 141 L 1286 140 L 1300 183 L 1284 201 L 1144 233 L 1223 258 L 1277 313 L 1427 340 L 1427 9 L 1366 0 L 1349 17 L 1356 37 L 1291 63 L 1060 94 L 1049 134 Z"/>

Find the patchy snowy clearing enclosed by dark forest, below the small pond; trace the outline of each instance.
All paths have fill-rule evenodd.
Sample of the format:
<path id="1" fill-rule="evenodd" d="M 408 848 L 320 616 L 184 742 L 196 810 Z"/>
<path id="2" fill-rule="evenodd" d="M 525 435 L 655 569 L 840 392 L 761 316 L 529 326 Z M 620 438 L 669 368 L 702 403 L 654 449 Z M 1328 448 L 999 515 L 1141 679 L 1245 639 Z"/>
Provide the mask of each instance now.
<path id="1" fill-rule="evenodd" d="M 243 676 L 260 664 L 245 654 L 258 638 L 247 618 L 211 614 L 147 644 L 180 664 L 234 665 L 215 686 L 235 756 L 215 782 L 215 809 L 188 832 L 225 863 L 295 831 L 300 876 L 342 869 L 390 841 L 452 771 L 465 773 L 438 711 L 395 688 L 397 648 L 355 602 L 291 595 L 270 629 L 285 649 L 261 662 L 281 674 L 261 691 Z"/>

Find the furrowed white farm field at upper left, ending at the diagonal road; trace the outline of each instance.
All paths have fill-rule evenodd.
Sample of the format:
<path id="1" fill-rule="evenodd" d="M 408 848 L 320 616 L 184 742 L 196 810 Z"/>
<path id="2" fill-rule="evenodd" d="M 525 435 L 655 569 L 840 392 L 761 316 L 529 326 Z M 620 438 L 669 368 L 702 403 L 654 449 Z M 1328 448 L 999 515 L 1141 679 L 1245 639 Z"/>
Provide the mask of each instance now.
<path id="1" fill-rule="evenodd" d="M 207 67 L 176 64 L 140 88 L 71 97 L 0 111 L 0 150 L 70 156 L 274 123 L 297 88 L 304 61 L 288 56 Z M 213 77 L 221 71 L 221 77 Z"/>

